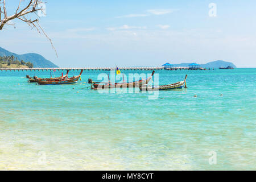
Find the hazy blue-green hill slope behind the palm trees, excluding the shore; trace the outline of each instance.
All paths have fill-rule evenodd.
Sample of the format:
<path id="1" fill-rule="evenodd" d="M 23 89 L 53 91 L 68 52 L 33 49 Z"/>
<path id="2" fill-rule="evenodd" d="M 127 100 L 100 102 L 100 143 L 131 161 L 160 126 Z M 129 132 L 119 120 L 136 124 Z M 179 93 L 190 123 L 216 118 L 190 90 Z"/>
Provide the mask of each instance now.
<path id="1" fill-rule="evenodd" d="M 43 56 L 37 53 L 25 53 L 23 55 L 18 55 L 16 53 L 7 51 L 0 47 L 0 56 L 11 56 L 17 57 L 17 59 L 23 60 L 25 62 L 30 61 L 34 68 L 58 68 L 57 65 L 53 64 L 51 61 L 45 59 Z"/>

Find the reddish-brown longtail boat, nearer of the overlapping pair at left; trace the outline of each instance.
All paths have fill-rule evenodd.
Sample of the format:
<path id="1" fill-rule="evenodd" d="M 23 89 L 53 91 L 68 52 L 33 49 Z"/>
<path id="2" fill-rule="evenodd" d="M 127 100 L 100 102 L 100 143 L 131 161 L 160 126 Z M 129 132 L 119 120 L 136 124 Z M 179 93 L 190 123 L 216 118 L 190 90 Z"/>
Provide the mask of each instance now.
<path id="1" fill-rule="evenodd" d="M 39 80 L 38 84 L 39 85 L 74 84 L 74 83 L 76 83 L 79 80 L 79 78 L 81 77 L 83 71 L 84 70 L 81 69 L 81 72 L 80 72 L 79 76 L 74 76 L 74 77 L 70 77 L 70 78 L 59 78 L 57 80 L 48 80 L 48 81 Z"/>

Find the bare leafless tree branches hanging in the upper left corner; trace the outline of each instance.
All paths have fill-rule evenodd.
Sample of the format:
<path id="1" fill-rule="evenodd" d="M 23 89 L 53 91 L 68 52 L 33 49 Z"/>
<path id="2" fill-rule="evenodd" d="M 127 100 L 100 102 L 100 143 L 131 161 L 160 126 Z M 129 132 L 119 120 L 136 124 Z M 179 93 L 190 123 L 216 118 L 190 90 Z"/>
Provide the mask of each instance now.
<path id="1" fill-rule="evenodd" d="M 3 1 L 3 3 L 2 3 L 2 1 Z M 13 19 L 22 20 L 23 22 L 26 22 L 28 24 L 28 26 L 30 26 L 32 28 L 35 27 L 36 30 L 39 32 L 39 34 L 40 34 L 40 31 L 42 31 L 44 36 L 46 36 L 46 38 L 51 43 L 51 46 L 56 53 L 56 56 L 58 56 L 56 49 L 53 46 L 52 39 L 49 38 L 49 36 L 46 34 L 46 32 L 43 30 L 43 28 L 39 24 L 40 16 L 36 13 L 38 11 L 41 11 L 42 13 L 44 13 L 44 9 L 42 8 L 42 6 L 39 6 L 42 3 L 46 3 L 46 2 L 43 2 L 42 0 L 29 0 L 27 2 L 27 6 L 23 7 L 23 9 L 20 10 L 20 7 L 21 7 L 20 5 L 22 4 L 22 0 L 20 0 L 15 14 L 7 16 L 6 0 L 0 0 L 0 30 L 2 30 L 5 25 L 13 25 L 14 26 L 13 23 L 8 23 L 10 20 L 13 20 Z M 1 6 L 3 6 L 3 11 L 1 9 Z M 5 18 L 1 19 L 1 14 L 4 14 Z M 28 15 L 28 14 L 31 14 L 31 15 L 35 14 L 39 18 L 28 19 L 28 18 L 26 18 L 26 15 Z"/>

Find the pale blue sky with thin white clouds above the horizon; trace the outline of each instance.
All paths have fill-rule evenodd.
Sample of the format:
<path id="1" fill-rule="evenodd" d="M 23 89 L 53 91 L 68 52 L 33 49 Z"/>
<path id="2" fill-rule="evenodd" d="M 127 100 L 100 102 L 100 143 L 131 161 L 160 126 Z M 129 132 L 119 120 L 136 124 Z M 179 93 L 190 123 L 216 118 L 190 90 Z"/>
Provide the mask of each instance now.
<path id="1" fill-rule="evenodd" d="M 19 1 L 7 4 L 9 14 Z M 215 3 L 216 15 L 209 16 Z M 48 40 L 15 20 L 0 32 L 0 46 L 40 53 L 60 67 L 158 66 L 232 61 L 256 67 L 255 1 L 52 1 L 42 27 Z"/>

